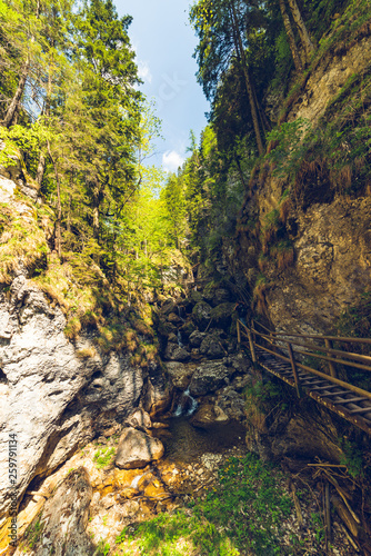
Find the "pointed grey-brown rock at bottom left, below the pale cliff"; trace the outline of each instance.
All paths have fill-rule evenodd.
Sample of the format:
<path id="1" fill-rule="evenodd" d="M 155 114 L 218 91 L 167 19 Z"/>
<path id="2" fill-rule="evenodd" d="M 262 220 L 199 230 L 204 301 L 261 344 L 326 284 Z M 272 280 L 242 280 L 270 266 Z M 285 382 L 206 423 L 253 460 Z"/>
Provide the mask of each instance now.
<path id="1" fill-rule="evenodd" d="M 71 471 L 44 505 L 39 519 L 40 535 L 32 544 L 33 554 L 38 556 L 92 555 L 94 546 L 86 532 L 91 498 L 92 487 L 87 470 L 80 467 Z M 37 519 L 31 525 L 31 532 Z M 16 554 L 22 554 L 22 552 L 17 550 Z"/>

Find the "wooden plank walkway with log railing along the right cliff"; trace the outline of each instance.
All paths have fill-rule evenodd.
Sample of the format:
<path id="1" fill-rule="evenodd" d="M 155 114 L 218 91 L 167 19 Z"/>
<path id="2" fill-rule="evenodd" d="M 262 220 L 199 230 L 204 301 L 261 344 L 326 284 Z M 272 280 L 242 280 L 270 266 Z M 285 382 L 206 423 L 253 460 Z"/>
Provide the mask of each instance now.
<path id="1" fill-rule="evenodd" d="M 243 341 L 244 336 L 249 342 Z M 371 357 L 332 347 L 333 341 L 349 342 L 350 340 L 371 345 L 370 339 L 305 337 L 288 332 L 272 332 L 265 327 L 264 332 L 261 332 L 257 330 L 257 325 L 245 327 L 242 322 L 238 324 L 238 337 L 250 349 L 253 363 L 295 388 L 299 397 L 310 396 L 371 436 L 371 393 L 340 380 L 337 376 L 339 363 L 353 368 L 355 366 L 357 369 L 370 374 L 371 385 Z M 313 344 L 313 340 L 325 340 L 325 346 Z M 300 363 L 303 356 L 312 356 L 327 361 L 329 374 Z"/>

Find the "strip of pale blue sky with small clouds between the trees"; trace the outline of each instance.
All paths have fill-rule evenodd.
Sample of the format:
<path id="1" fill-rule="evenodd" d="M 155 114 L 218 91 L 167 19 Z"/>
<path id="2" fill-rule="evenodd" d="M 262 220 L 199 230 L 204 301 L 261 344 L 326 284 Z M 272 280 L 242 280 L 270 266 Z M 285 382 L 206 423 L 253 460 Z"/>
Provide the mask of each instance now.
<path id="1" fill-rule="evenodd" d="M 129 13 L 129 29 L 137 52 L 141 90 L 156 99 L 164 141 L 158 141 L 152 161 L 176 171 L 187 157 L 192 129 L 199 138 L 209 111 L 195 81 L 192 58 L 197 38 L 188 21 L 189 0 L 116 0 L 119 16 Z"/>

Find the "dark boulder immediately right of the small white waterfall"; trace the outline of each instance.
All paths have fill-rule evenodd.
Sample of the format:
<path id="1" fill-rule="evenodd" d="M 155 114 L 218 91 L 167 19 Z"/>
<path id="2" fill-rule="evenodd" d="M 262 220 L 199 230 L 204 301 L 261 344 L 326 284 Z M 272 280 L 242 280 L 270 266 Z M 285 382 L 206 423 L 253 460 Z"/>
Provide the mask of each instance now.
<path id="1" fill-rule="evenodd" d="M 225 367 L 223 363 L 202 363 L 192 376 L 189 387 L 190 394 L 192 396 L 204 396 L 218 390 L 229 381 L 229 377 L 233 371 L 233 368 Z"/>

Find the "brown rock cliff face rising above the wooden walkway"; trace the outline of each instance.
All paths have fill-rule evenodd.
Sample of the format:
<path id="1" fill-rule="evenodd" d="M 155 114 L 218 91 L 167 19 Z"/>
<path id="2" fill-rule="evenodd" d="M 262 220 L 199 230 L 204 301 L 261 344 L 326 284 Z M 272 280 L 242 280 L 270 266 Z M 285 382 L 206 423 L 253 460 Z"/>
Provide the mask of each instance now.
<path id="1" fill-rule="evenodd" d="M 371 39 L 363 30 L 347 49 L 334 48 L 303 80 L 291 106 L 287 103 L 287 121 L 305 118 L 315 127 L 349 80 L 367 75 L 370 63 Z M 313 167 L 308 162 L 301 189 L 291 186 L 285 197 L 290 185 L 274 175 L 272 165 L 262 163 L 250 180 L 237 240 L 224 244 L 225 266 L 254 290 L 254 309 L 258 305 L 277 329 L 334 331 L 341 312 L 357 305 L 370 285 L 368 188 L 344 193 L 341 179 L 340 187 L 330 185 L 331 158 L 325 168 L 321 165 L 321 157 Z M 343 176 L 344 182 L 357 179 L 354 171 L 351 178 Z M 275 235 L 275 252 L 267 248 L 270 234 Z"/>

